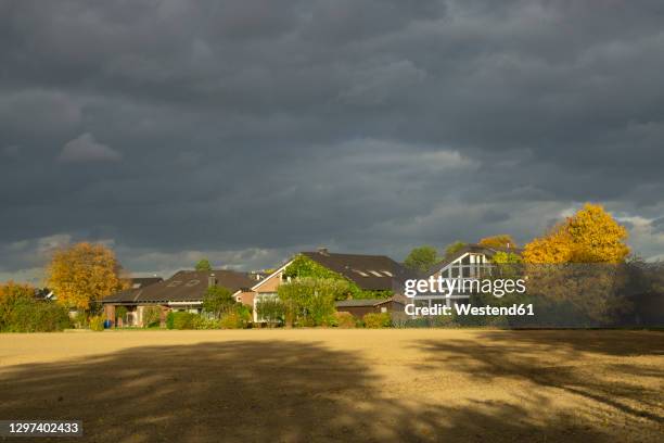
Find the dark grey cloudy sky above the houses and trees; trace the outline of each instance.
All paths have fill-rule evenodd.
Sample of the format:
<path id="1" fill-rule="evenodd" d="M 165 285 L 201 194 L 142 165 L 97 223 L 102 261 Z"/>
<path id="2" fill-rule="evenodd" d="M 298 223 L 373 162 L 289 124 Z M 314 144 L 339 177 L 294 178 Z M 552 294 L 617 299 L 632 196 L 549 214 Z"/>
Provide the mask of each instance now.
<path id="1" fill-rule="evenodd" d="M 0 2 L 0 279 L 511 233 L 603 203 L 664 256 L 664 3 Z"/>

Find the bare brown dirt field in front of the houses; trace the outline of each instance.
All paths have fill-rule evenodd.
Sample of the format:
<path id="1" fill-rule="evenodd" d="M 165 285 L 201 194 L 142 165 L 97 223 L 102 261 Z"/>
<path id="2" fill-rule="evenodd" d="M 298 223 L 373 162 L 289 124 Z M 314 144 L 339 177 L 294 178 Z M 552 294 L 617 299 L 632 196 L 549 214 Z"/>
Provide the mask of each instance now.
<path id="1" fill-rule="evenodd" d="M 81 419 L 95 442 L 654 442 L 664 333 L 3 334 L 0 397 L 0 419 Z"/>

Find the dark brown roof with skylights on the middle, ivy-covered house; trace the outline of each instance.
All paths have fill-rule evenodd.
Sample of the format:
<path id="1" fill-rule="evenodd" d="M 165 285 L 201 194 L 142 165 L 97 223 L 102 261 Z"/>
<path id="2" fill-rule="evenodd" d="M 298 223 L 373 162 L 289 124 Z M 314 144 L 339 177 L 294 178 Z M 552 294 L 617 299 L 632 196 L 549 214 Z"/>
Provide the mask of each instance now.
<path id="1" fill-rule="evenodd" d="M 398 290 L 410 273 L 385 255 L 333 254 L 321 250 L 302 255 L 369 291 Z"/>

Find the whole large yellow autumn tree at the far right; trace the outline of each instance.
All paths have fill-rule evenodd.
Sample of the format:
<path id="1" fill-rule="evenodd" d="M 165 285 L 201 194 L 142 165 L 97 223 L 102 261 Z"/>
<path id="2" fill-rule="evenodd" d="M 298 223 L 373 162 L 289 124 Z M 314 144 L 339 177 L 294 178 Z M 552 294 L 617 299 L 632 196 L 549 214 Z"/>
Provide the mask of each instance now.
<path id="1" fill-rule="evenodd" d="M 582 314 L 588 326 L 611 325 L 630 307 L 623 290 L 629 254 L 626 240 L 624 226 L 601 205 L 586 203 L 548 235 L 525 245 L 528 292 Z"/>

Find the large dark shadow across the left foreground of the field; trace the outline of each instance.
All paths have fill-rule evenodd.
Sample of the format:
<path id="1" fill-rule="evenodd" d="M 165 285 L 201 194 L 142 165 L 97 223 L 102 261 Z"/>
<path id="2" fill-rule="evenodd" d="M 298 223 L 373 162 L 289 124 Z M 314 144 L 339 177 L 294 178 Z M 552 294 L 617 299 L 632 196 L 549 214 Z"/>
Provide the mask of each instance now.
<path id="1" fill-rule="evenodd" d="M 435 351 L 440 344 L 430 346 Z M 460 351 L 459 357 L 487 358 L 487 365 L 499 360 L 490 353 L 482 357 L 480 351 Z M 510 365 L 514 363 L 503 364 L 501 370 L 518 370 Z M 484 375 L 489 375 L 488 368 Z M 551 375 L 533 377 L 554 383 Z M 443 391 L 440 401 L 432 404 L 407 394 L 394 400 L 386 395 L 393 388 L 382 385 L 359 355 L 316 344 L 238 341 L 145 346 L 7 368 L 0 372 L 0 418 L 80 419 L 84 440 L 94 442 L 609 438 L 572 414 L 538 413 L 547 400 L 536 395 L 519 406 L 470 402 L 452 408 L 445 406 Z"/>

